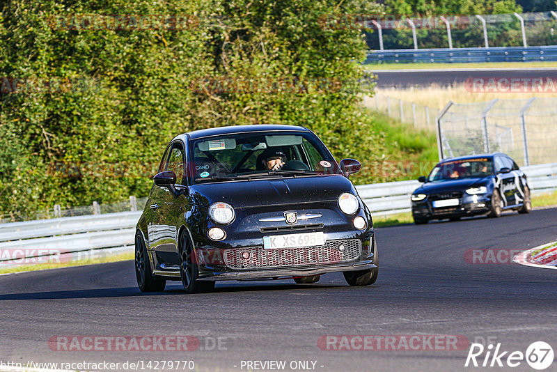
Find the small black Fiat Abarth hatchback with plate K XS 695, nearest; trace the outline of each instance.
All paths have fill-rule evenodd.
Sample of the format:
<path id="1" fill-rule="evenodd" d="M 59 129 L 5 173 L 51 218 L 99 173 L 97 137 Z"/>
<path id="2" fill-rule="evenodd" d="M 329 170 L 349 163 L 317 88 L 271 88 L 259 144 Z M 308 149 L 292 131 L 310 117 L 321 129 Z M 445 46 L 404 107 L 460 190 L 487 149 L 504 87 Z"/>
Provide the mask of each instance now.
<path id="1" fill-rule="evenodd" d="M 310 130 L 240 125 L 180 134 L 166 147 L 135 236 L 143 292 L 181 280 L 187 293 L 217 280 L 294 279 L 343 272 L 377 279 L 370 211 Z"/>

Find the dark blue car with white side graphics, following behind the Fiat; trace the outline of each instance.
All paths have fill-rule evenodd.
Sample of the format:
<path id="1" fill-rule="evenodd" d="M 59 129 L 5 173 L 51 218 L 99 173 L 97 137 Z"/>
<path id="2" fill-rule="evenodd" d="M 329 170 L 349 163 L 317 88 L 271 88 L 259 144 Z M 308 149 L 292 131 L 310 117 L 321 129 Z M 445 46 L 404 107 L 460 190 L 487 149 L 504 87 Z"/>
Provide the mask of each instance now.
<path id="1" fill-rule="evenodd" d="M 470 155 L 437 164 L 411 196 L 416 224 L 430 219 L 451 220 L 503 210 L 530 213 L 532 203 L 526 175 L 508 155 Z"/>

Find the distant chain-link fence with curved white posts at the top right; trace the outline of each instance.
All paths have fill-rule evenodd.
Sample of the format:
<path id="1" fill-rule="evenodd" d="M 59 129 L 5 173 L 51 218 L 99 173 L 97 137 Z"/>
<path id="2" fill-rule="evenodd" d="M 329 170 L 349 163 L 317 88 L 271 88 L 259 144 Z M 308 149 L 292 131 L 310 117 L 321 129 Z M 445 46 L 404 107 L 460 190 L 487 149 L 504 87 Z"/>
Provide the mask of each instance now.
<path id="1" fill-rule="evenodd" d="M 354 17 L 353 22 L 368 30 L 368 47 L 375 50 L 557 44 L 557 13 L 553 11 L 405 19 L 370 15 Z"/>

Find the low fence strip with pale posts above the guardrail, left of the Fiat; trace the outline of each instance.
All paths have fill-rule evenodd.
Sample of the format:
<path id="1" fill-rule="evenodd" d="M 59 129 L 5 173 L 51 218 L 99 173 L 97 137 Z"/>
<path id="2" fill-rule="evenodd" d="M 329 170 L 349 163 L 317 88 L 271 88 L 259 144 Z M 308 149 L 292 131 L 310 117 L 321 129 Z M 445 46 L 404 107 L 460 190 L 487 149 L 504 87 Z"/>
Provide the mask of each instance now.
<path id="1" fill-rule="evenodd" d="M 143 210 L 147 203 L 147 198 L 137 199 L 135 196 L 130 196 L 129 201 L 119 201 L 111 204 L 99 204 L 93 201 L 91 206 L 79 207 L 63 207 L 59 204 L 54 205 L 52 208 L 32 212 L 23 218 L 15 218 L 10 215 L 0 215 L 0 224 L 8 222 L 29 221 L 34 219 L 49 219 L 57 217 L 75 217 L 85 215 L 103 215 L 105 213 L 127 212 Z"/>

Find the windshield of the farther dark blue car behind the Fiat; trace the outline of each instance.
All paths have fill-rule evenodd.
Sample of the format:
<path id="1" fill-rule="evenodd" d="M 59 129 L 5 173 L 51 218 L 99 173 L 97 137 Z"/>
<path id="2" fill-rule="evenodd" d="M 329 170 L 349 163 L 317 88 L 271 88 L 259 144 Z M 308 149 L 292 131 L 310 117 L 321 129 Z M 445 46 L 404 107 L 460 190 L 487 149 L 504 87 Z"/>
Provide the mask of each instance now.
<path id="1" fill-rule="evenodd" d="M 478 159 L 454 160 L 437 164 L 428 180 L 444 181 L 460 178 L 485 177 L 493 174 L 493 161 L 486 157 Z"/>

